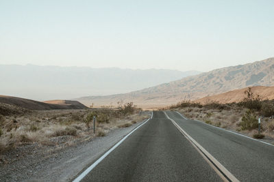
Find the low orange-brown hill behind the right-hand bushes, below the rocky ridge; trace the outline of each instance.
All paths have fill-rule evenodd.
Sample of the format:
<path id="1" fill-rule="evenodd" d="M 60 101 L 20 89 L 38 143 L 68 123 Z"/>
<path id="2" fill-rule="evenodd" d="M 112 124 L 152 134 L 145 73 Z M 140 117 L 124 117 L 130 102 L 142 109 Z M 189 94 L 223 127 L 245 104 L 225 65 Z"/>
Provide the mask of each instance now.
<path id="1" fill-rule="evenodd" d="M 245 98 L 246 90 L 247 88 L 228 91 L 218 95 L 203 97 L 199 100 L 195 100 L 195 102 L 199 102 L 201 104 L 206 104 L 209 102 L 219 102 L 221 104 L 241 102 Z M 251 87 L 251 91 L 254 94 L 260 95 L 262 100 L 274 100 L 274 87 L 264 87 L 264 86 Z"/>

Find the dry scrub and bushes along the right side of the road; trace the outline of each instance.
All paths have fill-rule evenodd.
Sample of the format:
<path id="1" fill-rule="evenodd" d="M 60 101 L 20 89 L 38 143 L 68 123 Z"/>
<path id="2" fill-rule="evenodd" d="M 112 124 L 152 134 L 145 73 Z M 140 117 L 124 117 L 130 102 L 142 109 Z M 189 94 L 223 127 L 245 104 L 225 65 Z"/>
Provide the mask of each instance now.
<path id="1" fill-rule="evenodd" d="M 274 138 L 274 101 L 262 100 L 251 88 L 245 91 L 245 98 L 238 103 L 200 104 L 184 100 L 169 107 L 182 112 L 190 119 L 197 119 L 227 130 L 242 132 L 253 138 Z M 258 118 L 262 117 L 261 134 L 258 134 Z"/>

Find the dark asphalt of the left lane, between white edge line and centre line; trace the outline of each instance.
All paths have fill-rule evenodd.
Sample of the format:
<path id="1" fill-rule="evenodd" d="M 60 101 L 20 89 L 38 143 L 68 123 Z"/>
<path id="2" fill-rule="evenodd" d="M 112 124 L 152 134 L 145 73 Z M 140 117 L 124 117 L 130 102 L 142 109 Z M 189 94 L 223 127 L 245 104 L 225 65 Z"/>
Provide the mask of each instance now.
<path id="1" fill-rule="evenodd" d="M 153 118 L 126 138 L 82 181 L 222 181 L 166 118 Z"/>

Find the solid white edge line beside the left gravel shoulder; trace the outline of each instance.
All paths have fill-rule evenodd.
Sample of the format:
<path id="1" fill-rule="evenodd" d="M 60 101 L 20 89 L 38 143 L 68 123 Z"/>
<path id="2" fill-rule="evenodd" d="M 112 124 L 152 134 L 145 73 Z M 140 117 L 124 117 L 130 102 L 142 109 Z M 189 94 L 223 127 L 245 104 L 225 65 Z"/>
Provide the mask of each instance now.
<path id="1" fill-rule="evenodd" d="M 153 111 L 151 111 L 151 117 L 149 119 L 147 119 L 147 121 L 149 121 L 150 119 L 152 119 L 153 117 Z M 127 134 L 124 138 L 122 138 L 122 140 L 120 140 L 118 143 L 116 143 L 116 145 L 114 145 L 111 149 L 109 149 L 105 154 L 103 154 L 97 161 L 95 161 L 95 163 L 93 163 L 91 166 L 89 166 L 86 170 L 84 170 L 84 172 L 81 173 L 81 175 L 79 175 L 76 179 L 73 180 L 73 182 L 79 182 L 81 181 L 84 177 L 86 177 L 86 175 L 88 175 L 88 173 L 95 168 L 105 157 L 107 157 L 114 149 L 116 149 L 119 145 L 121 145 L 121 143 L 129 136 L 131 135 L 133 132 L 135 132 L 136 130 L 138 130 L 138 128 L 140 128 L 142 125 L 145 125 L 145 123 L 147 123 L 147 121 L 145 121 L 144 123 L 138 125 L 138 127 L 136 127 L 134 130 L 132 130 L 132 132 L 130 132 L 129 134 Z"/>

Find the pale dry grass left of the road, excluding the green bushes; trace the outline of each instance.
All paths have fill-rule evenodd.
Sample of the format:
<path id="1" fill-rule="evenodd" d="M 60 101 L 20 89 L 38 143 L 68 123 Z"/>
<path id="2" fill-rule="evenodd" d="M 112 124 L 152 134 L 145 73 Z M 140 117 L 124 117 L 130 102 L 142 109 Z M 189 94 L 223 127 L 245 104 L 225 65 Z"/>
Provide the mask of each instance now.
<path id="1" fill-rule="evenodd" d="M 127 127 L 148 118 L 149 115 L 139 115 L 140 110 L 131 114 L 110 117 L 108 122 L 96 123 L 96 134 L 93 134 L 93 122 L 86 122 L 90 115 L 87 110 L 37 110 L 25 115 L 0 115 L 0 151 L 12 149 L 20 145 L 34 142 L 41 145 L 55 145 L 60 137 L 68 138 L 61 142 L 88 140 L 95 136 L 105 136 L 117 127 Z M 109 111 L 109 109 L 108 109 Z M 104 108 L 98 112 L 105 112 Z"/>

